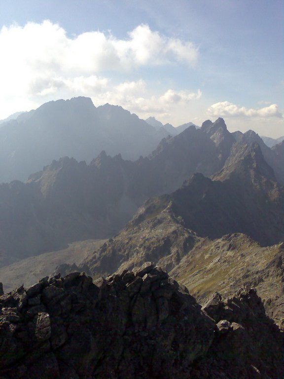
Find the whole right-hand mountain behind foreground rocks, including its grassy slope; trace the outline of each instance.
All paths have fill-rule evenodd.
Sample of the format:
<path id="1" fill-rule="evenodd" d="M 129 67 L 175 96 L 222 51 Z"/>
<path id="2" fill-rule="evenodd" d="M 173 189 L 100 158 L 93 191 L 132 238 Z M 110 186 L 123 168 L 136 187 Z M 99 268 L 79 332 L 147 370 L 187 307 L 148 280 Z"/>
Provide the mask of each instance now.
<path id="1" fill-rule="evenodd" d="M 232 234 L 236 237 L 230 239 Z M 224 256 L 219 239 L 224 241 Z M 147 200 L 82 267 L 87 265 L 95 276 L 107 275 L 150 260 L 172 270 L 200 300 L 218 290 L 232 295 L 245 283 L 259 285 L 261 296 L 273 299 L 267 310 L 284 328 L 278 289 L 283 254 L 277 258 L 283 244 L 260 247 L 253 239 L 262 246 L 284 240 L 284 189 L 259 145 L 234 144 L 213 179 L 194 174 L 175 192 Z M 227 240 L 232 241 L 225 244 Z"/>

